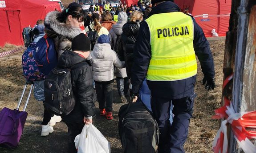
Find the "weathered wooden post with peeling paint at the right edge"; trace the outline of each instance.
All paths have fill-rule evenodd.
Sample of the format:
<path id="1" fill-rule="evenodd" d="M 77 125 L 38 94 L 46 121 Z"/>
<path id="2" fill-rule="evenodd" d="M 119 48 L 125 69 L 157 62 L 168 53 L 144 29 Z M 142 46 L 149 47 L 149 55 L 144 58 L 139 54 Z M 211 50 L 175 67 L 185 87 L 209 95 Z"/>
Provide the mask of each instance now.
<path id="1" fill-rule="evenodd" d="M 226 37 L 224 79 L 234 72 L 223 96 L 232 97 L 236 112 L 256 110 L 256 1 L 232 0 L 232 15 Z M 238 7 L 239 6 L 239 7 Z M 234 40 L 236 39 L 236 40 Z M 233 65 L 234 63 L 234 65 Z M 232 87 L 232 91 L 229 89 Z M 229 153 L 240 153 L 229 128 Z"/>

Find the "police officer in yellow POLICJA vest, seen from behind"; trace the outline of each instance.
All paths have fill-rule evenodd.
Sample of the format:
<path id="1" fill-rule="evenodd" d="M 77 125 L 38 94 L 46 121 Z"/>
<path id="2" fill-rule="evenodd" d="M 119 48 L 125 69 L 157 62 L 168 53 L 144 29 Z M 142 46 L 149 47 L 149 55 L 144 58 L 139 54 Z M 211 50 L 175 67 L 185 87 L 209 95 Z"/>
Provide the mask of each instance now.
<path id="1" fill-rule="evenodd" d="M 215 87 L 214 62 L 203 30 L 192 16 L 180 12 L 173 0 L 152 0 L 155 7 L 142 21 L 134 46 L 131 96 L 137 96 L 146 77 L 151 108 L 158 122 L 158 153 L 185 153 L 195 100 L 197 55 L 203 85 Z M 174 106 L 171 125 L 170 106 Z"/>

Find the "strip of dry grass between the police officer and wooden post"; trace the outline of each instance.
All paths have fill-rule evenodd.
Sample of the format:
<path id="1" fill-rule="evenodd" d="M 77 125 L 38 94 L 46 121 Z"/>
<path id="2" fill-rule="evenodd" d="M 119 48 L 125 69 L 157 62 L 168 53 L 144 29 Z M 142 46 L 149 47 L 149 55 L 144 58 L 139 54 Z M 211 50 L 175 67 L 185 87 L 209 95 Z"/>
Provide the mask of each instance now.
<path id="1" fill-rule="evenodd" d="M 220 106 L 223 83 L 223 58 L 225 41 L 210 41 L 211 51 L 215 63 L 215 89 L 207 91 L 202 85 L 203 73 L 198 69 L 197 82 L 195 84 L 195 99 L 193 118 L 187 142 L 186 153 L 212 153 L 211 145 L 219 129 L 219 122 L 212 120 L 214 110 Z M 200 67 L 198 62 L 198 67 Z"/>

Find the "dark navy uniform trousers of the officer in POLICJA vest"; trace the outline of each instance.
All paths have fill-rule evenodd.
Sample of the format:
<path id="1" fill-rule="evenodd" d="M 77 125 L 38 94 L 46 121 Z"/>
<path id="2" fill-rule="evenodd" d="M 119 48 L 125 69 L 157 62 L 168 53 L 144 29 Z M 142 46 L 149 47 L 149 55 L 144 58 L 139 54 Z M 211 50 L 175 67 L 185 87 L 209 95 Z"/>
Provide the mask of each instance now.
<path id="1" fill-rule="evenodd" d="M 185 153 L 183 145 L 187 139 L 190 118 L 196 94 L 180 99 L 151 97 L 151 107 L 160 132 L 158 153 Z M 169 121 L 171 102 L 174 106 L 172 125 Z"/>

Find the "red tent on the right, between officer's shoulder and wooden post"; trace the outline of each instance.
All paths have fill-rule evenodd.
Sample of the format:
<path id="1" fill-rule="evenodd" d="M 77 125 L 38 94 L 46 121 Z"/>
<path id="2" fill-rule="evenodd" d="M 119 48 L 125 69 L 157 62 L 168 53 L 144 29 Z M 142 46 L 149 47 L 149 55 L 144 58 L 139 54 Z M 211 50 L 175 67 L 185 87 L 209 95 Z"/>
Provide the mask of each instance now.
<path id="1" fill-rule="evenodd" d="M 174 0 L 181 11 L 189 8 L 203 32 L 210 37 L 212 29 L 219 36 L 225 36 L 229 26 L 232 0 Z"/>

